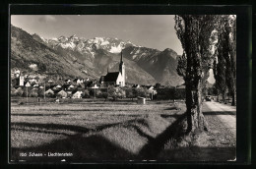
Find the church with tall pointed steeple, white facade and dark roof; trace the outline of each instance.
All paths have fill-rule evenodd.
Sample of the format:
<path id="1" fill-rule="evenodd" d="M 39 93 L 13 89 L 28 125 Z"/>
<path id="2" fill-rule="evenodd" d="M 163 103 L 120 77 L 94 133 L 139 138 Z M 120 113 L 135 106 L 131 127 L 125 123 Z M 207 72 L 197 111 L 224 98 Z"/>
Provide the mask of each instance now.
<path id="1" fill-rule="evenodd" d="M 125 86 L 125 66 L 123 62 L 123 54 L 121 51 L 121 60 L 119 64 L 119 72 L 108 72 L 105 76 L 101 76 L 99 79 L 100 84 L 114 84 Z"/>

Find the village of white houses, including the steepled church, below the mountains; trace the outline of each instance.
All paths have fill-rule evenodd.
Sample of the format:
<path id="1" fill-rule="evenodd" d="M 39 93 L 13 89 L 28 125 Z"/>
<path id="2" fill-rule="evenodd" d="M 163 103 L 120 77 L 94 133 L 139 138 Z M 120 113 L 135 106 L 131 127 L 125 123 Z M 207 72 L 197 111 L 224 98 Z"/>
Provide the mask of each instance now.
<path id="1" fill-rule="evenodd" d="M 44 78 L 22 75 L 20 70 L 12 74 L 11 96 L 49 98 L 118 98 L 143 97 L 145 99 L 184 99 L 185 85 L 164 86 L 126 83 L 125 65 L 122 52 L 118 72 L 108 72 L 99 80 L 76 78 L 62 80 L 61 78 Z M 166 92 L 167 91 L 167 92 Z M 159 94 L 158 94 L 159 92 Z M 57 100 L 59 101 L 59 100 Z"/>

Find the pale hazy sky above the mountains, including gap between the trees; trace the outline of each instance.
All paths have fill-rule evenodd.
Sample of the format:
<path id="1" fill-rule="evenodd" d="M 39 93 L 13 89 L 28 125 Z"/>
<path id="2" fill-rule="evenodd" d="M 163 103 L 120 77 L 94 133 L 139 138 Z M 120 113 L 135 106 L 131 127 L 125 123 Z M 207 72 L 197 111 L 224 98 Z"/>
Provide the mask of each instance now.
<path id="1" fill-rule="evenodd" d="M 136 45 L 183 53 L 173 15 L 12 15 L 11 24 L 46 39 L 76 34 L 87 39 L 116 37 Z M 210 83 L 214 78 L 210 72 Z"/>

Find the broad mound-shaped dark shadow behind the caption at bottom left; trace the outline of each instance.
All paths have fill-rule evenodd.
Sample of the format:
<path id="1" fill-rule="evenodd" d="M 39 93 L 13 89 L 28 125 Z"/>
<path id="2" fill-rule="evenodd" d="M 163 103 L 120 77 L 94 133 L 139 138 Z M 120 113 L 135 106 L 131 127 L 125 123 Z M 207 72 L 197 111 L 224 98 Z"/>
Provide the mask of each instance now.
<path id="1" fill-rule="evenodd" d="M 27 152 L 27 157 L 21 157 L 21 152 Z M 42 157 L 29 156 L 30 152 L 42 153 Z M 72 153 L 73 156 L 48 156 L 48 152 Z M 44 155 L 45 154 L 45 155 Z M 97 162 L 110 160 L 129 160 L 134 155 L 101 136 L 83 137 L 82 135 L 70 136 L 64 140 L 53 141 L 48 144 L 30 148 L 11 148 L 12 160 L 26 160 L 32 162 Z"/>

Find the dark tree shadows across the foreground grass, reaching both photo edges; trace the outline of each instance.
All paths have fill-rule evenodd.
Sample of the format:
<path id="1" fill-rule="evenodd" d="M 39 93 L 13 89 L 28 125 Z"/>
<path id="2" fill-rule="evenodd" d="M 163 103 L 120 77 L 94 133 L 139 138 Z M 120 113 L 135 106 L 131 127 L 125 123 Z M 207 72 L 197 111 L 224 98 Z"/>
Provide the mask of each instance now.
<path id="1" fill-rule="evenodd" d="M 161 117 L 163 117 L 161 115 Z M 181 147 L 171 150 L 163 150 L 164 143 L 169 141 L 175 134 L 178 124 L 186 117 L 182 115 L 165 115 L 164 117 L 174 117 L 177 120 L 173 122 L 169 127 L 165 129 L 156 139 L 145 134 L 138 126 L 133 123 L 142 124 L 148 126 L 144 119 L 128 120 L 121 123 L 106 124 L 96 127 L 96 129 L 88 129 L 85 127 L 79 127 L 74 125 L 60 125 L 60 124 L 31 124 L 31 123 L 12 123 L 12 128 L 31 127 L 39 128 L 39 132 L 45 132 L 43 129 L 52 130 L 69 130 L 76 132 L 75 135 L 67 135 L 67 139 L 52 141 L 47 144 L 38 145 L 36 147 L 24 147 L 24 148 L 11 148 L 12 160 L 27 160 L 33 162 L 58 162 L 62 159 L 66 159 L 67 162 L 98 162 L 98 161 L 125 161 L 129 159 L 133 160 L 171 160 L 175 161 L 226 161 L 233 159 L 235 156 L 235 147 Z M 85 137 L 84 134 L 95 131 L 102 131 L 107 128 L 119 126 L 134 128 L 137 133 L 148 139 L 148 143 L 145 144 L 140 150 L 138 155 L 132 154 L 123 147 L 108 141 L 102 136 L 92 135 Z M 19 129 L 20 130 L 20 129 Z M 26 129 L 22 129 L 25 130 Z M 32 131 L 38 132 L 38 131 Z M 48 133 L 48 132 L 46 132 Z M 52 132 L 52 134 L 62 134 L 58 132 Z M 64 135 L 64 134 L 62 134 Z M 21 157 L 20 152 L 41 152 L 45 153 L 42 157 Z M 70 157 L 48 157 L 48 152 L 71 152 L 73 156 Z"/>

